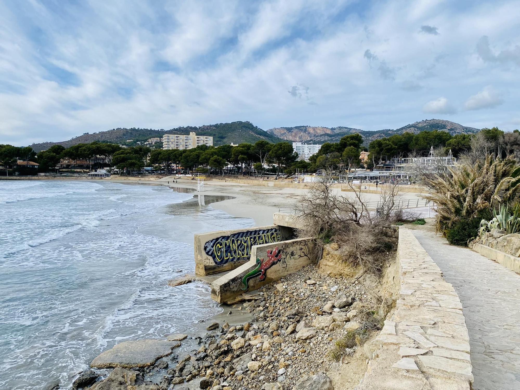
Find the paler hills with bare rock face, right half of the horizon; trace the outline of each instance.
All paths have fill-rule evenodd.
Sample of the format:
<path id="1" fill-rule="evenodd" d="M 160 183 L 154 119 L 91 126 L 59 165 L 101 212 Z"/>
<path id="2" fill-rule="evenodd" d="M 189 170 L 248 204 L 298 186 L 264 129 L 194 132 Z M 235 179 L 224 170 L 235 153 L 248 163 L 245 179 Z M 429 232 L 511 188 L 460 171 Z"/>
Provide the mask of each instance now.
<path id="1" fill-rule="evenodd" d="M 295 126 L 295 127 L 275 127 L 267 132 L 277 137 L 289 141 L 313 141 L 313 142 L 337 142 L 341 137 L 349 134 L 359 133 L 363 136 L 363 144 L 368 145 L 374 139 L 389 137 L 394 134 L 411 132 L 414 134 L 423 131 L 442 130 L 451 135 L 472 134 L 479 131 L 474 127 L 462 126 L 458 123 L 444 121 L 440 119 L 428 119 L 415 122 L 398 129 L 383 129 L 376 131 L 366 131 L 352 127 L 315 127 L 315 126 Z"/>

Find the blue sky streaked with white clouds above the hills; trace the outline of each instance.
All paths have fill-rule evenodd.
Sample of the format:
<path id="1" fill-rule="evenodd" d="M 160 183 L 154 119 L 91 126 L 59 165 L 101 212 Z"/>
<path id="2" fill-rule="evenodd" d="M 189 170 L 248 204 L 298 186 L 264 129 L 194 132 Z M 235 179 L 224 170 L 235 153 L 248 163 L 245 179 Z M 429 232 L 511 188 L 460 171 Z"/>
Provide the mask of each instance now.
<path id="1" fill-rule="evenodd" d="M 0 0 L 0 144 L 250 121 L 520 128 L 520 1 Z"/>

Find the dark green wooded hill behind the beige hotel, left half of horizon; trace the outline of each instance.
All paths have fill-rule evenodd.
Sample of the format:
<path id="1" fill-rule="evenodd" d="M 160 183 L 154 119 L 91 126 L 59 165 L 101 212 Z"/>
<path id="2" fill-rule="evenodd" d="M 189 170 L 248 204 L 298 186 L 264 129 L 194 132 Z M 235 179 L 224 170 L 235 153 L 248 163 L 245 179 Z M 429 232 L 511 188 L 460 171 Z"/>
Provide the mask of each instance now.
<path id="1" fill-rule="evenodd" d="M 152 137 L 162 137 L 164 134 L 189 134 L 195 132 L 197 135 L 206 135 L 213 137 L 213 145 L 240 144 L 241 142 L 254 142 L 265 139 L 269 142 L 280 142 L 282 139 L 275 135 L 269 134 L 261 128 L 253 125 L 251 122 L 231 122 L 216 123 L 204 126 L 185 126 L 176 127 L 170 130 L 154 130 L 151 128 L 114 128 L 105 132 L 85 133 L 78 137 L 60 142 L 42 142 L 41 144 L 33 144 L 31 147 L 36 151 L 45 150 L 53 145 L 62 145 L 66 148 L 77 144 L 88 144 L 93 141 L 110 142 L 113 144 L 121 144 L 133 146 L 137 141 L 146 141 Z"/>

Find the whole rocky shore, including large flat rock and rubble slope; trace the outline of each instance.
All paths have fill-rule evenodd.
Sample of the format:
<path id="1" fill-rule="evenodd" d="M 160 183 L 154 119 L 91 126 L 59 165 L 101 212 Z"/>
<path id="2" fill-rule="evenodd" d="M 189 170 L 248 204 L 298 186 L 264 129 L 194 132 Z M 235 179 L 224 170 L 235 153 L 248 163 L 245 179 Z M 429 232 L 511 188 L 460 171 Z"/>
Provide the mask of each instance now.
<path id="1" fill-rule="evenodd" d="M 363 351 L 358 339 L 365 342 L 380 329 L 374 327 L 382 318 L 376 314 L 380 306 L 378 294 L 361 280 L 324 276 L 316 266 L 307 266 L 259 290 L 255 301 L 226 309 L 228 314 L 233 310 L 250 313 L 248 322 L 230 325 L 220 317 L 218 322 L 208 321 L 207 333 L 200 336 L 175 334 L 166 341 L 134 342 L 134 346 L 121 343 L 93 361 L 93 367 L 117 367 L 106 379 L 90 370 L 76 379 L 73 387 L 353 388 L 345 386 L 349 383 L 345 375 L 357 383 L 365 373 L 371 352 Z M 367 316 L 371 326 L 367 326 Z M 339 343 L 346 337 L 356 337 L 357 345 Z M 150 344 L 145 345 L 147 342 Z"/>

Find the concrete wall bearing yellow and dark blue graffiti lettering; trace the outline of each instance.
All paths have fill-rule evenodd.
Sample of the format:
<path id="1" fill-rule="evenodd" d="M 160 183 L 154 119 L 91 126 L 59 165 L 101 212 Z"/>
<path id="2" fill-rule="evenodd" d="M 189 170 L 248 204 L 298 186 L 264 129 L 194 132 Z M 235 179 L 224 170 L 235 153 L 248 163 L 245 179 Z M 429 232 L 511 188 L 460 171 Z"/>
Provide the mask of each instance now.
<path id="1" fill-rule="evenodd" d="M 289 238 L 292 229 L 276 225 L 195 235 L 195 272 L 206 276 L 237 268 L 249 261 L 253 245 Z"/>

